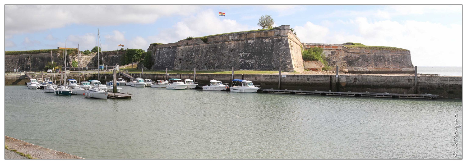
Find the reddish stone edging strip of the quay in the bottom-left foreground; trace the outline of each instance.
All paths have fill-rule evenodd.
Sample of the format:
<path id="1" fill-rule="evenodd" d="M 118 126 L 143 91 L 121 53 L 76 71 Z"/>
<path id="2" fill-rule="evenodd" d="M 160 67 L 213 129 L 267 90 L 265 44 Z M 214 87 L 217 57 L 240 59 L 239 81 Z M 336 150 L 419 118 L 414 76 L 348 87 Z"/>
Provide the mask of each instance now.
<path id="1" fill-rule="evenodd" d="M 19 152 L 29 154 L 31 157 L 36 159 L 84 159 L 82 157 L 27 143 L 7 135 L 5 135 L 5 145 L 8 146 L 8 149 L 18 150 Z"/>

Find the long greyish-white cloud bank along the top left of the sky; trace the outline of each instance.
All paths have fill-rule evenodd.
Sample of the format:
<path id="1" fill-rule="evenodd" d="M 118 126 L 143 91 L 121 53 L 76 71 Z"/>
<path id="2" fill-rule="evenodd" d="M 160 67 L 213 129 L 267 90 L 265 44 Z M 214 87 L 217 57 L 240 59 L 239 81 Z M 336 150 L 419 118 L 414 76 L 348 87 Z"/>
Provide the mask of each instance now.
<path id="1" fill-rule="evenodd" d="M 6 5 L 5 33 L 12 35 L 42 31 L 73 23 L 93 26 L 148 24 L 163 16 L 189 15 L 198 8 L 172 5 Z"/>

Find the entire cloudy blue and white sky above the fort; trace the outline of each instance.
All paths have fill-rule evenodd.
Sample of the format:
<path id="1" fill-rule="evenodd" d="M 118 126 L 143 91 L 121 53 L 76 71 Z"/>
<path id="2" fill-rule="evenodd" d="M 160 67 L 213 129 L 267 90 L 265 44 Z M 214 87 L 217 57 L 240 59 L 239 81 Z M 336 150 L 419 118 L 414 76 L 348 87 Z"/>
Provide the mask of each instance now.
<path id="1" fill-rule="evenodd" d="M 218 12 L 226 13 L 219 17 Z M 261 15 L 303 43 L 391 46 L 415 66 L 461 66 L 461 6 L 5 6 L 5 49 L 148 49 L 188 36 L 259 29 Z M 218 23 L 219 18 L 219 23 Z"/>

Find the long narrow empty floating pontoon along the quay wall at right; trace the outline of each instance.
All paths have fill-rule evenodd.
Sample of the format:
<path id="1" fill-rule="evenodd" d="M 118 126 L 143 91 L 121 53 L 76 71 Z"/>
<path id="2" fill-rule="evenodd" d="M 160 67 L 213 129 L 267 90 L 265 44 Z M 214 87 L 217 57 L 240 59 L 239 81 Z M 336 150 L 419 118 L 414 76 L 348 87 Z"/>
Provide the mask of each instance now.
<path id="1" fill-rule="evenodd" d="M 437 94 L 401 94 L 401 93 L 369 93 L 369 92 L 326 92 L 326 91 L 302 91 L 302 90 L 279 90 L 260 89 L 258 92 L 266 93 L 289 93 L 289 94 L 313 94 L 329 96 L 354 96 L 354 97 L 381 97 L 381 98 L 404 98 L 404 99 L 435 99 Z"/>

